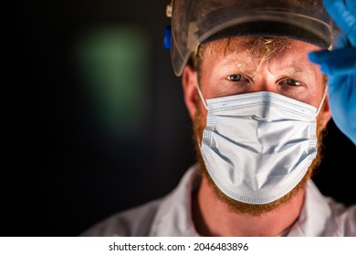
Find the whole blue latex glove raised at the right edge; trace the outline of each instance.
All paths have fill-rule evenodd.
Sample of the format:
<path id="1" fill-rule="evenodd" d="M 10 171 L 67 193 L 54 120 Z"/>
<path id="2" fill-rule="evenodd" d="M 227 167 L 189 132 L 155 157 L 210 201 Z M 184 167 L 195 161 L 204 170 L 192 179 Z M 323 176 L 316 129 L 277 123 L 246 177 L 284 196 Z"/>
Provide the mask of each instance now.
<path id="1" fill-rule="evenodd" d="M 356 145 L 356 0 L 324 0 L 329 15 L 342 34 L 332 51 L 309 54 L 328 76 L 328 96 L 332 118 Z"/>

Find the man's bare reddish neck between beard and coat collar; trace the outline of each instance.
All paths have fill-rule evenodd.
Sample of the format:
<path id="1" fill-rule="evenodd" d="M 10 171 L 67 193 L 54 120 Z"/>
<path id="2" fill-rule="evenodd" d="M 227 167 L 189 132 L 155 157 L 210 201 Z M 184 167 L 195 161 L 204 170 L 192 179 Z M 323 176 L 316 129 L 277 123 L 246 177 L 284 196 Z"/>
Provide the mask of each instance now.
<path id="1" fill-rule="evenodd" d="M 194 194 L 193 219 L 196 230 L 203 236 L 278 236 L 297 219 L 303 206 L 304 189 L 280 205 L 260 216 L 238 214 L 217 198 L 214 189 L 203 177 Z"/>

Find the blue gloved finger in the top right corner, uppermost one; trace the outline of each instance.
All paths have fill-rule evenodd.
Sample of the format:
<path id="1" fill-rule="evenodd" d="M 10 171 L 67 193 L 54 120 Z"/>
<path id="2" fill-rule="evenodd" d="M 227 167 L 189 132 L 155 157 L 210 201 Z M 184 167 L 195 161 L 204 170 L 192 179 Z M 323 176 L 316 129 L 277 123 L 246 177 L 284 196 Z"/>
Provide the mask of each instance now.
<path id="1" fill-rule="evenodd" d="M 348 37 L 351 45 L 356 46 L 356 12 L 353 9 L 355 4 L 351 2 L 349 0 L 348 4 L 346 4 L 343 0 L 323 0 L 323 5 L 342 32 Z"/>

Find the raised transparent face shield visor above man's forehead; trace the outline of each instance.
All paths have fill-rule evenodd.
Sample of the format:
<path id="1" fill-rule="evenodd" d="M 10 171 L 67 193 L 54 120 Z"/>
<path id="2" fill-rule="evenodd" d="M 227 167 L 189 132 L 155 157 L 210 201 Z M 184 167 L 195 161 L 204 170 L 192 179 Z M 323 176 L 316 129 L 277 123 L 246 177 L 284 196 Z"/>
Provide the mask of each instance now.
<path id="1" fill-rule="evenodd" d="M 329 48 L 332 19 L 321 0 L 175 0 L 171 57 L 176 76 L 197 47 L 232 36 L 286 37 Z"/>

